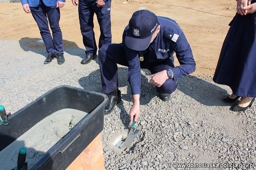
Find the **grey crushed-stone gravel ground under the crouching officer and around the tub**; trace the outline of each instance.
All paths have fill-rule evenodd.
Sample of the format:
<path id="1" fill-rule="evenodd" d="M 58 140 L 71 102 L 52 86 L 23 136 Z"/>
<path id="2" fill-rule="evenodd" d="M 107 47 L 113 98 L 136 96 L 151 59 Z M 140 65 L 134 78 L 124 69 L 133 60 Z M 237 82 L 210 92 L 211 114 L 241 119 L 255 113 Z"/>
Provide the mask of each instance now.
<path id="1" fill-rule="evenodd" d="M 44 51 L 44 45 L 35 38 L 0 40 L 0 104 L 7 112 L 16 112 L 58 85 L 101 91 L 98 59 L 82 65 L 84 51 L 65 48 L 64 64 L 58 65 L 56 59 L 43 64 Z M 106 169 L 167 170 L 177 163 L 255 163 L 255 104 L 242 113 L 231 111 L 233 104 L 221 101 L 230 89 L 215 84 L 209 75 L 180 78 L 171 100 L 162 102 L 148 83 L 148 70 L 142 70 L 141 116 L 137 121 L 140 132 L 126 151 L 113 146 L 118 136 L 128 133 L 132 100 L 127 71 L 119 67 L 122 102 L 105 116 L 101 136 Z"/>

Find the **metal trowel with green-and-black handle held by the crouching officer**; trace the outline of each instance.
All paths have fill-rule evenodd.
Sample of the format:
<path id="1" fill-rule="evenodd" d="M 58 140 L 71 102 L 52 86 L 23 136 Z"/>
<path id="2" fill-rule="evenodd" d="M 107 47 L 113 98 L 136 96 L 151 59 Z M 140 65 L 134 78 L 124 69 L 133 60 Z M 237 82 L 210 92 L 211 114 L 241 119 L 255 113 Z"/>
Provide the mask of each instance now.
<path id="1" fill-rule="evenodd" d="M 135 121 L 133 119 L 131 129 L 126 137 L 126 140 L 119 146 L 119 148 L 124 150 L 127 149 L 132 144 L 133 140 L 136 138 L 138 132 L 139 130 L 136 129 Z"/>

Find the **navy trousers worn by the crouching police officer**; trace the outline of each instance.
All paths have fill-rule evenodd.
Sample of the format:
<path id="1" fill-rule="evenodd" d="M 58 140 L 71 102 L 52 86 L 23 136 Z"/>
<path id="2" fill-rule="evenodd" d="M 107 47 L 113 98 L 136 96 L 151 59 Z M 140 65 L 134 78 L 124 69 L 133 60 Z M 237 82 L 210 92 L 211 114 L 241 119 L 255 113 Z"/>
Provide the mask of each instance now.
<path id="1" fill-rule="evenodd" d="M 171 59 L 161 62 L 147 62 L 148 54 L 144 55 L 144 61 L 140 61 L 140 68 L 148 69 L 151 74 L 166 69 L 172 69 L 174 64 Z M 101 85 L 103 93 L 110 93 L 118 89 L 117 64 L 128 66 L 125 51 L 122 44 L 106 44 L 99 50 Z M 167 73 L 166 73 L 167 74 Z M 177 81 L 168 79 L 161 87 L 156 87 L 158 93 L 173 93 L 177 89 Z"/>

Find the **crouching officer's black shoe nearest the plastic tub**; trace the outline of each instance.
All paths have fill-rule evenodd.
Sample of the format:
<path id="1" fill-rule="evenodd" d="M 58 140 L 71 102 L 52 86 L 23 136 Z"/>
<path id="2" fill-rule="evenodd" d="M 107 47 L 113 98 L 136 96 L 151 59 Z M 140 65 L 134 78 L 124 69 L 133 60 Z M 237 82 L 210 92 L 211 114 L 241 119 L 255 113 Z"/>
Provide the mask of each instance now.
<path id="1" fill-rule="evenodd" d="M 108 94 L 109 98 L 109 103 L 104 109 L 104 115 L 108 115 L 111 112 L 113 112 L 115 105 L 120 103 L 122 98 L 121 98 L 121 91 L 117 91 L 117 96 L 113 96 L 111 93 Z"/>

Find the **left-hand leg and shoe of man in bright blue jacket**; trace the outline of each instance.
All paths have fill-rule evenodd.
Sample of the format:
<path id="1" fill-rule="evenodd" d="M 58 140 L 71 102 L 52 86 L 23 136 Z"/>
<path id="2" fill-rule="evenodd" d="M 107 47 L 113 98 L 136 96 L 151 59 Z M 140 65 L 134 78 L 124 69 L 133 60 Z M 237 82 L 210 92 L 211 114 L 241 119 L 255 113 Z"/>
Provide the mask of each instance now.
<path id="1" fill-rule="evenodd" d="M 30 7 L 32 16 L 36 21 L 38 28 L 40 30 L 41 37 L 46 47 L 46 52 L 48 53 L 47 58 L 44 61 L 44 64 L 48 64 L 52 61 L 52 58 L 55 57 L 55 48 L 52 40 L 52 35 L 48 27 L 48 20 L 46 11 L 43 7 L 43 1 L 39 1 L 37 7 Z"/>

